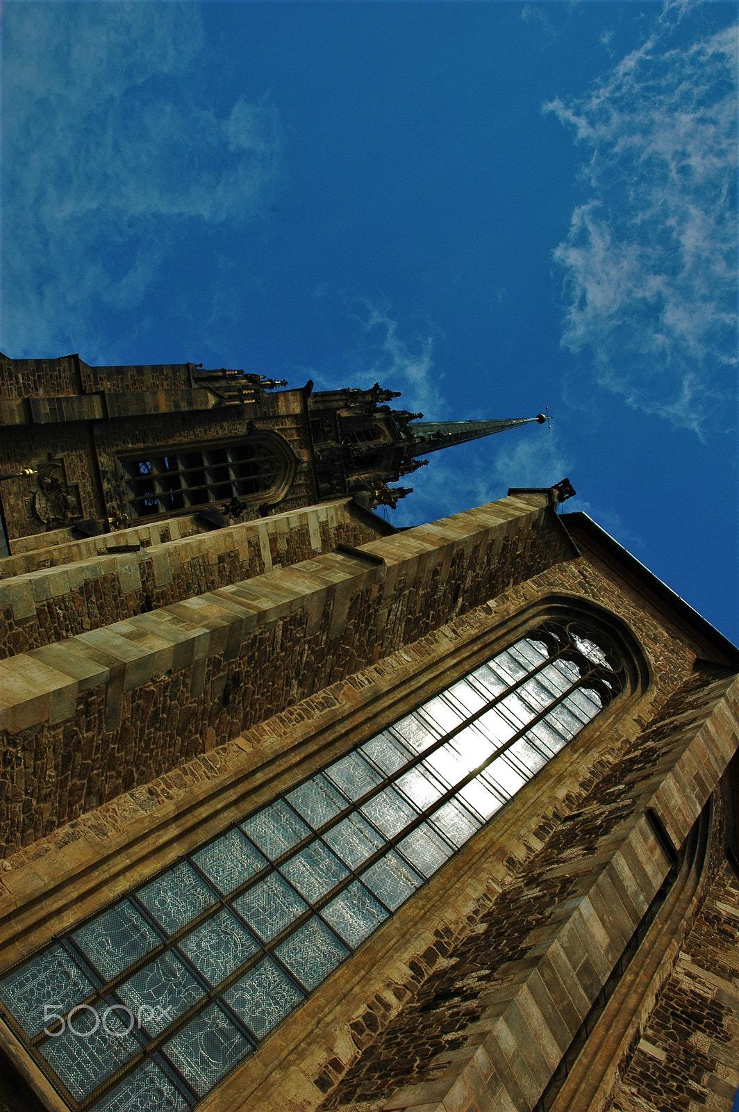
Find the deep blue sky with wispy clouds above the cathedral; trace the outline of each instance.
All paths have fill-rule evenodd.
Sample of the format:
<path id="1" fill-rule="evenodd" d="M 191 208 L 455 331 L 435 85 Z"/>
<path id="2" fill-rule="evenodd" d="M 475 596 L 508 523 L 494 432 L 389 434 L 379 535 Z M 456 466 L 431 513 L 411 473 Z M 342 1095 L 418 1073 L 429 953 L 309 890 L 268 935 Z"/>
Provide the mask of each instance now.
<path id="1" fill-rule="evenodd" d="M 736 9 L 6 0 L 8 355 L 532 416 L 415 524 L 568 475 L 739 641 Z"/>

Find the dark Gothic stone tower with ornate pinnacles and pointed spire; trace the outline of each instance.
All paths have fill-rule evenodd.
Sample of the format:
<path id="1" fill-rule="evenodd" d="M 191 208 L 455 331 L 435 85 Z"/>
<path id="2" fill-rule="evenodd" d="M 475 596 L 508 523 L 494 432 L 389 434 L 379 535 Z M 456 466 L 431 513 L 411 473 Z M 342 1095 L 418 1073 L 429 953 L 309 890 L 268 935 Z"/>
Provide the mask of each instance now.
<path id="1" fill-rule="evenodd" d="M 377 383 L 278 389 L 286 385 L 191 363 L 0 355 L 6 549 L 44 532 L 51 544 L 173 517 L 207 530 L 224 512 L 250 520 L 350 493 L 367 508 L 395 506 L 412 488 L 388 484 L 421 466 L 419 455 L 529 424 L 422 424 L 422 414 L 391 409 L 399 395 Z"/>

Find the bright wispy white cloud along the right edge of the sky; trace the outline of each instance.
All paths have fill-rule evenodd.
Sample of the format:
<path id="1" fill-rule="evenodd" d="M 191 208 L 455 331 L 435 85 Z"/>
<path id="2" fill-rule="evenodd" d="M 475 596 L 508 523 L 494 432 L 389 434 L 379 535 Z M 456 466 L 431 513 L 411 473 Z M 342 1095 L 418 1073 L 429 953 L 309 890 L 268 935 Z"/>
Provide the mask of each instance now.
<path id="1" fill-rule="evenodd" d="M 668 2 L 589 93 L 545 110 L 590 149 L 555 251 L 562 344 L 629 405 L 702 435 L 735 389 L 737 29 L 707 33 L 695 7 Z"/>

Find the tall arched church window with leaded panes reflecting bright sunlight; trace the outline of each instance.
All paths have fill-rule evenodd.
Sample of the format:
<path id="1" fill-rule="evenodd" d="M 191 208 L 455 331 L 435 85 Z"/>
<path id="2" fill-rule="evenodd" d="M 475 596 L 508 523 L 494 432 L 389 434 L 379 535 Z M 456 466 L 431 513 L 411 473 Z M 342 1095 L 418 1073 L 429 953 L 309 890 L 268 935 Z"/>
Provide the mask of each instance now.
<path id="1" fill-rule="evenodd" d="M 7 973 L 74 1110 L 193 1108 L 625 687 L 542 624 Z"/>

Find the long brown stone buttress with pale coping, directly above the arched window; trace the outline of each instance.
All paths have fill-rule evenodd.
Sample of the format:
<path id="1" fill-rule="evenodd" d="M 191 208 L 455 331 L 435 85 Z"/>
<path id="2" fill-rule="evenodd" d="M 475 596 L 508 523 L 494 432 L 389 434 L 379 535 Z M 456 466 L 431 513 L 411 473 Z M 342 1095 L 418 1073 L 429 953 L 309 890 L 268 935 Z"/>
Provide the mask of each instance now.
<path id="1" fill-rule="evenodd" d="M 0 661 L 0 842 L 43 836 L 571 555 L 551 510 L 511 498 Z"/>

